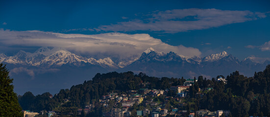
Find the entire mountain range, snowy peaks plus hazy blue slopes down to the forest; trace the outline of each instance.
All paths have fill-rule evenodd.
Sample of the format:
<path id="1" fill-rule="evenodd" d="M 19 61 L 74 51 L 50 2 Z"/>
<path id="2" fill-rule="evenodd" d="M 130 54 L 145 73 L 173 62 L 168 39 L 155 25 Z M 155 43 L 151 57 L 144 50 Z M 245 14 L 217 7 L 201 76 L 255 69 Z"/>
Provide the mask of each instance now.
<path id="1" fill-rule="evenodd" d="M 25 91 L 57 93 L 55 91 L 60 88 L 89 80 L 97 73 L 111 71 L 143 72 L 154 77 L 194 78 L 202 75 L 213 78 L 218 75 L 226 77 L 236 70 L 245 76 L 253 76 L 255 71 L 262 71 L 270 64 L 269 60 L 255 62 L 252 57 L 239 60 L 225 51 L 200 58 L 158 52 L 153 48 L 148 48 L 140 57 L 114 61 L 109 57 L 79 56 L 63 48 L 42 47 L 34 53 L 19 51 L 10 57 L 0 54 L 0 61 L 7 64 L 18 94 Z"/>

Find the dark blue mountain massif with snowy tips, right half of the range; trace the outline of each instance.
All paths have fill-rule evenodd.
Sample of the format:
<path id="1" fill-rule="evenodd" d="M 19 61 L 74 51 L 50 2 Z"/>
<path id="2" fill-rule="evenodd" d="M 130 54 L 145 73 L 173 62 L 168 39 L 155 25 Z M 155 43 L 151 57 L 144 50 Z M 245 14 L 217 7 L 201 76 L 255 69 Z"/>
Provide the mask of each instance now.
<path id="1" fill-rule="evenodd" d="M 163 53 L 148 48 L 142 56 L 123 68 L 122 71 L 144 72 L 151 76 L 169 76 L 193 78 L 199 75 L 212 78 L 218 75 L 229 75 L 240 71 L 246 76 L 252 76 L 255 71 L 260 71 L 267 64 L 252 62 L 252 66 L 243 64 L 243 61 L 223 51 L 204 58 L 184 57 L 174 52 Z"/>

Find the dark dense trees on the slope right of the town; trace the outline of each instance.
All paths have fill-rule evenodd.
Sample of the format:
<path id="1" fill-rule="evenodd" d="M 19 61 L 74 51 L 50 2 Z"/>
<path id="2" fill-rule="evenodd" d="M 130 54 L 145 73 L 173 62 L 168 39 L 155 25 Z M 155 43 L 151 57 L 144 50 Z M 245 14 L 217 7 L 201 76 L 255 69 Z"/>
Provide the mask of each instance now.
<path id="1" fill-rule="evenodd" d="M 198 88 L 207 87 L 214 90 L 201 98 L 196 97 L 196 93 L 201 93 Z M 193 110 L 230 110 L 233 117 L 270 117 L 270 65 L 250 78 L 240 75 L 238 71 L 233 72 L 227 76 L 226 84 L 217 82 L 215 78 L 212 81 L 203 80 L 200 76 L 190 87 L 189 96 L 188 99 L 194 102 L 190 105 Z"/>

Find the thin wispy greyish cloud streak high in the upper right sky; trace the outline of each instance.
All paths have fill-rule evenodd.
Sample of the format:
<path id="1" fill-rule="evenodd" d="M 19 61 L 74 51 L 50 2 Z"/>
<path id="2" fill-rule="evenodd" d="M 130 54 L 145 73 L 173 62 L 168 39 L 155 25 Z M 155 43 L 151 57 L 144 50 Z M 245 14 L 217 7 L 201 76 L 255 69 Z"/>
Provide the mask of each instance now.
<path id="1" fill-rule="evenodd" d="M 143 30 L 177 33 L 258 20 L 267 16 L 266 13 L 261 12 L 190 8 L 153 12 L 152 14 L 139 17 L 142 17 L 142 19 L 133 19 L 111 25 L 101 25 L 95 29 L 97 31 L 116 32 Z"/>

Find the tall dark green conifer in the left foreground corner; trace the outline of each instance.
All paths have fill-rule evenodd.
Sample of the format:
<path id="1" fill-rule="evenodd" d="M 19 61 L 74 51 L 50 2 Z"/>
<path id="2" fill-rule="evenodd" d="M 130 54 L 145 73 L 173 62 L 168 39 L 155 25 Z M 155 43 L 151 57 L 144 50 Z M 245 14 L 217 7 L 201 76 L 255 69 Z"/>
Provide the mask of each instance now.
<path id="1" fill-rule="evenodd" d="M 0 63 L 0 117 L 23 117 L 17 95 L 13 92 L 13 79 L 8 73 L 5 65 Z"/>

